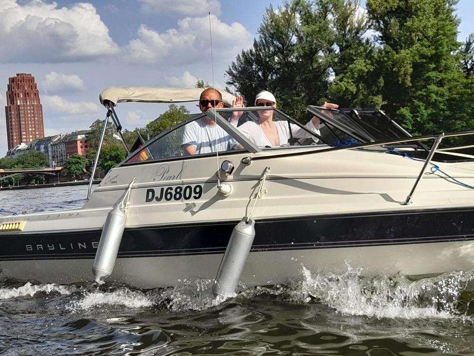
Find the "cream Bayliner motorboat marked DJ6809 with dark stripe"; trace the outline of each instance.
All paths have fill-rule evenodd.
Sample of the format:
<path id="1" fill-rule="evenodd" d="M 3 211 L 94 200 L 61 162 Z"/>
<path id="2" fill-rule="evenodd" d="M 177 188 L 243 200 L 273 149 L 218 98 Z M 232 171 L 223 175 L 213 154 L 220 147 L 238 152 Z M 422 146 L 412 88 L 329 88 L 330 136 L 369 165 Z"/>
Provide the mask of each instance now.
<path id="1" fill-rule="evenodd" d="M 100 143 L 109 120 L 121 134 L 118 105 L 197 101 L 200 92 L 104 90 Z M 82 207 L 0 217 L 1 271 L 145 288 L 216 278 L 232 292 L 238 281 L 285 283 L 303 268 L 411 277 L 473 268 L 474 156 L 465 144 L 473 132 L 413 137 L 377 109 L 310 105 L 314 131 L 277 108 L 231 108 L 232 99 L 223 93 L 227 107 L 130 152 Z M 265 110 L 287 125 L 288 142 L 259 146 L 242 133 Z M 185 155 L 183 134 L 198 120 L 238 147 Z"/>

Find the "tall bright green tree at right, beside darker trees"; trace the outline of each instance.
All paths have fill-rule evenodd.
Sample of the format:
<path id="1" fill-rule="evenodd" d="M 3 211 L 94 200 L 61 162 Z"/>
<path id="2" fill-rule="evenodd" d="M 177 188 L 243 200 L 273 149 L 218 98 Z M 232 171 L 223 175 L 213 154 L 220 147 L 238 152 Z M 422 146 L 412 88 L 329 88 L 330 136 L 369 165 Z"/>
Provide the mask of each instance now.
<path id="1" fill-rule="evenodd" d="M 457 0 L 367 0 L 382 46 L 383 109 L 413 134 L 473 127 L 457 42 Z M 467 119 L 467 120 L 465 120 Z"/>

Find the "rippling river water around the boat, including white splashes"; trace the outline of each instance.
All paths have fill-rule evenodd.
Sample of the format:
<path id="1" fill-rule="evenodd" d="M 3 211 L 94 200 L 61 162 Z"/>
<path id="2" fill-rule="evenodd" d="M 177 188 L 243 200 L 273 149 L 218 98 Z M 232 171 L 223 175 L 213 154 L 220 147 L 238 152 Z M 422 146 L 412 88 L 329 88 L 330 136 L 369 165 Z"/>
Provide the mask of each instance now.
<path id="1" fill-rule="evenodd" d="M 0 191 L 0 216 L 84 203 L 87 186 Z M 212 297 L 165 289 L 35 284 L 0 274 L 0 355 L 474 355 L 474 271 L 410 281 L 315 275 Z"/>

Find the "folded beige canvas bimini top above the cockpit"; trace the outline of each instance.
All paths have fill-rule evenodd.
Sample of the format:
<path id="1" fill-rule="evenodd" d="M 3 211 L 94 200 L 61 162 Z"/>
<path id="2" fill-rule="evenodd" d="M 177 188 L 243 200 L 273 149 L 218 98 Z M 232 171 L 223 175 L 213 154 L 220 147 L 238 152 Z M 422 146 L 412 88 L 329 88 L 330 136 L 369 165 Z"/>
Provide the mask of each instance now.
<path id="1" fill-rule="evenodd" d="M 100 95 L 100 103 L 104 105 L 105 101 L 110 101 L 117 106 L 119 102 L 157 102 L 173 103 L 198 101 L 201 88 L 108 88 L 103 90 Z M 227 91 L 219 90 L 222 93 L 222 100 L 225 106 L 231 107 L 235 96 Z"/>

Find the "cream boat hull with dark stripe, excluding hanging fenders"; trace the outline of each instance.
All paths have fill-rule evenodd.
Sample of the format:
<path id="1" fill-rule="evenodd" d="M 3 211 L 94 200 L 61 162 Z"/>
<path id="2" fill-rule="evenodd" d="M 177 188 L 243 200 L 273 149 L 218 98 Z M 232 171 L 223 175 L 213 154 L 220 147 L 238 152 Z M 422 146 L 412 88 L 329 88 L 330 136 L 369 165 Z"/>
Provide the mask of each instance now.
<path id="1" fill-rule="evenodd" d="M 256 236 L 240 277 L 249 285 L 284 283 L 303 267 L 431 275 L 474 266 L 472 190 L 427 174 L 413 204 L 401 204 L 423 162 L 351 149 L 250 165 L 241 163 L 246 155 L 220 157 L 238 164 L 223 178 L 234 188 L 228 197 L 217 189 L 216 158 L 202 157 L 113 169 L 80 209 L 0 218 L 24 223 L 21 231 L 0 231 L 0 269 L 40 282 L 92 281 L 105 218 L 134 177 L 107 281 L 153 288 L 215 278 L 232 228 L 250 214 Z M 474 185 L 473 163 L 444 166 Z M 256 201 L 266 167 L 265 194 Z"/>

